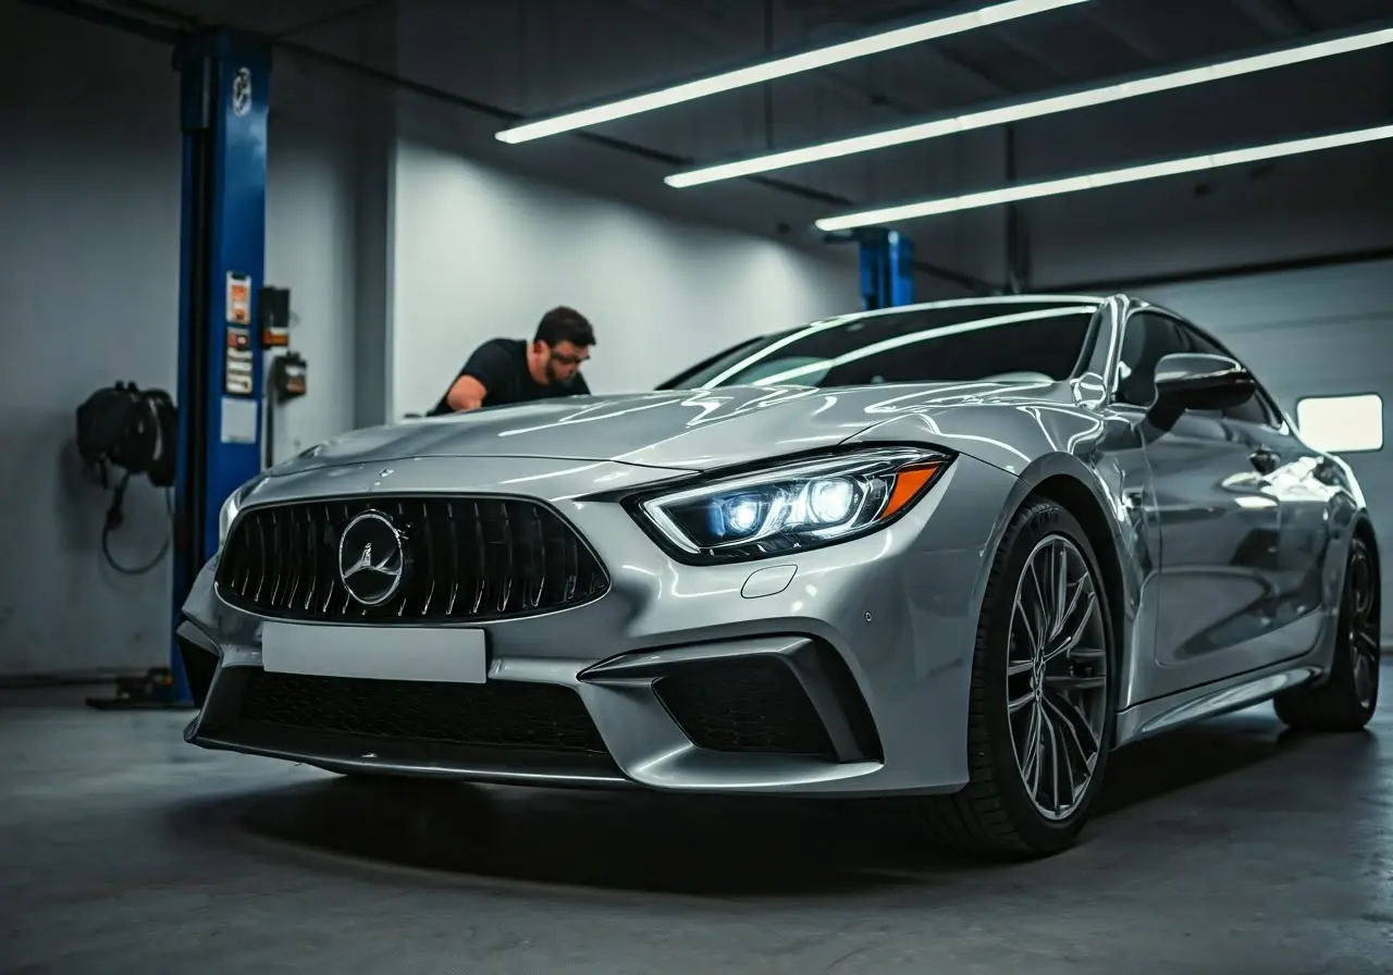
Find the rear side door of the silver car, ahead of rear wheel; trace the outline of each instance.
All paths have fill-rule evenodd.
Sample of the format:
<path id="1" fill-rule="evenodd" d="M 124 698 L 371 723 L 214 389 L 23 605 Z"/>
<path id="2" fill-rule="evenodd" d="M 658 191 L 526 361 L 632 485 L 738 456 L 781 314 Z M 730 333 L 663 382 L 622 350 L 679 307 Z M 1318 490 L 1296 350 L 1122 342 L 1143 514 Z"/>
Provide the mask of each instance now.
<path id="1" fill-rule="evenodd" d="M 1187 325 L 1197 352 L 1233 354 L 1213 337 Z M 1272 396 L 1256 384 L 1248 403 L 1223 411 L 1222 422 L 1251 450 L 1255 471 L 1280 511 L 1275 563 L 1270 662 L 1305 653 L 1319 637 L 1321 571 L 1330 542 L 1329 504 L 1333 485 L 1323 476 L 1325 458 L 1301 442 Z"/>

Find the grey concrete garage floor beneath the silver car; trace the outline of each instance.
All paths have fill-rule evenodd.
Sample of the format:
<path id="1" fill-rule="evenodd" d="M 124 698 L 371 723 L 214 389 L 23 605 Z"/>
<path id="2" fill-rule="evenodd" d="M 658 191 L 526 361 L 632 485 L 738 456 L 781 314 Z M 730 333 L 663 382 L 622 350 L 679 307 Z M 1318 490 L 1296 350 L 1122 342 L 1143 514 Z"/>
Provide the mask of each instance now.
<path id="1" fill-rule="evenodd" d="M 366 788 L 81 696 L 0 695 L 0 971 L 1393 972 L 1387 709 L 1144 742 L 1078 848 L 979 866 L 893 805 Z"/>

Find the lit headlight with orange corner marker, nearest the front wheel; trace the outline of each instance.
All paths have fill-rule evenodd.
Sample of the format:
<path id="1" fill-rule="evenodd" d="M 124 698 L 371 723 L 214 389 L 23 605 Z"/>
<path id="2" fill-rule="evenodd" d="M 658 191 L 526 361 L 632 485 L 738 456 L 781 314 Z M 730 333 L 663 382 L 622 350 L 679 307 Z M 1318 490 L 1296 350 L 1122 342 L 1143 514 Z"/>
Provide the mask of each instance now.
<path id="1" fill-rule="evenodd" d="M 862 450 L 651 496 L 638 511 L 671 547 L 699 561 L 759 559 L 889 524 L 949 460 L 911 447 Z"/>

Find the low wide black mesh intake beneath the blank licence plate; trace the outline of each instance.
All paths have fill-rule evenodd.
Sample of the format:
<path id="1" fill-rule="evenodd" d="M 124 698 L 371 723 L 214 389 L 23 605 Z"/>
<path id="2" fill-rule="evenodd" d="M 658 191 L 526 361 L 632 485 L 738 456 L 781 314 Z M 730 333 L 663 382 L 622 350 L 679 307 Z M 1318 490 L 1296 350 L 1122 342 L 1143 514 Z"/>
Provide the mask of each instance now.
<path id="1" fill-rule="evenodd" d="M 571 688 L 435 684 L 252 671 L 241 720 L 301 731 L 481 748 L 605 754 Z"/>

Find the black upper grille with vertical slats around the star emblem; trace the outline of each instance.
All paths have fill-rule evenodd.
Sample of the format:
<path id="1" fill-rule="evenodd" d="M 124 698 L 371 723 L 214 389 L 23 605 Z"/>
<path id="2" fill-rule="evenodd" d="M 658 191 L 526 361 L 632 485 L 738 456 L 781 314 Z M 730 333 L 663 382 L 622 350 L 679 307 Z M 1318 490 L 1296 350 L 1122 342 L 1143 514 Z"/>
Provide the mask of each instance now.
<path id="1" fill-rule="evenodd" d="M 403 532 L 394 595 L 365 606 L 344 586 L 338 539 L 365 511 Z M 325 623 L 469 623 L 570 609 L 609 575 L 552 508 L 522 499 L 364 497 L 245 511 L 223 546 L 219 593 L 238 609 Z"/>

